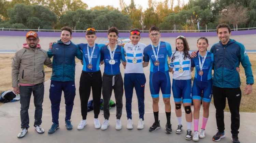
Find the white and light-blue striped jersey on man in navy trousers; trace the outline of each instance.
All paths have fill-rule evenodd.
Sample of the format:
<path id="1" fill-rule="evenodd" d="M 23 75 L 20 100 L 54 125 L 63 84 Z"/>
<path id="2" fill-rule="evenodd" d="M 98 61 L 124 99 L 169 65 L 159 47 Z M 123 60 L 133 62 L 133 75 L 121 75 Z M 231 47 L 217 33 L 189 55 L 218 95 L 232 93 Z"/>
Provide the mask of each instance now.
<path id="1" fill-rule="evenodd" d="M 142 61 L 143 61 L 143 52 L 144 52 L 145 47 L 146 47 L 146 44 L 144 44 L 144 43 L 138 43 L 136 45 L 133 45 L 131 43 L 125 44 L 124 52 L 125 52 L 126 58 L 127 58 L 125 74 L 128 74 L 128 73 L 141 73 L 141 74 L 143 74 L 144 73 L 143 72 Z M 132 59 L 134 58 L 132 48 L 136 48 L 137 63 L 132 63 Z"/>

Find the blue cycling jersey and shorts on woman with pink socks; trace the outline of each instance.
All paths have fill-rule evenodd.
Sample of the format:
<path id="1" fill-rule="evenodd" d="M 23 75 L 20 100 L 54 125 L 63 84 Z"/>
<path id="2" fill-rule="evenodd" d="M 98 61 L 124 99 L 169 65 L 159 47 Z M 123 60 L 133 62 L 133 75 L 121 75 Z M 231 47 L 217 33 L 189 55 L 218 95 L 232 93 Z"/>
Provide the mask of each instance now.
<path id="1" fill-rule="evenodd" d="M 205 61 L 202 67 L 203 75 L 199 75 L 200 66 L 199 59 L 202 63 L 203 57 L 197 53 L 197 57 L 191 59 L 191 67 L 195 68 L 195 78 L 192 87 L 192 98 L 201 100 L 201 93 L 203 92 L 203 101 L 211 102 L 212 99 L 212 67 L 213 67 L 213 53 L 207 52 Z"/>

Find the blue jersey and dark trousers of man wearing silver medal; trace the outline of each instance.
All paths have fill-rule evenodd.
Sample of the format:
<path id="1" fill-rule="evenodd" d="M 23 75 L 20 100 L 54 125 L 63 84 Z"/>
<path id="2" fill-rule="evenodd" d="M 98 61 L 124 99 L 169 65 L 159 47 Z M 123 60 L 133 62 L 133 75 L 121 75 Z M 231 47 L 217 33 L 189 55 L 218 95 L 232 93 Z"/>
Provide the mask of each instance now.
<path id="1" fill-rule="evenodd" d="M 111 51 L 113 54 L 113 51 Z M 102 96 L 103 96 L 103 111 L 104 118 L 109 119 L 109 100 L 111 98 L 112 90 L 114 89 L 115 100 L 116 100 L 116 118 L 120 119 L 122 116 L 123 108 L 123 78 L 120 73 L 120 63 L 126 61 L 124 55 L 124 48 L 117 46 L 113 60 L 114 64 L 110 64 L 111 55 L 108 46 L 101 48 L 101 61 L 104 60 L 104 73 L 102 76 Z"/>

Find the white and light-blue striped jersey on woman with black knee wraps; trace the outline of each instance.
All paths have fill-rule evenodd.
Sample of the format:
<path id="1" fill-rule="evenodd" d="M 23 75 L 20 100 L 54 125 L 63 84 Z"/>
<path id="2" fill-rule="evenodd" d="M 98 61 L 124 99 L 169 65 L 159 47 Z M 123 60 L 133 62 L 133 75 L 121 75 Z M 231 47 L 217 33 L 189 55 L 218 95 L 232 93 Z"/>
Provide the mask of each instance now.
<path id="1" fill-rule="evenodd" d="M 191 52 L 189 51 L 189 56 L 191 55 Z M 182 51 L 181 54 L 184 56 L 184 52 Z M 174 56 L 174 60 L 172 61 L 172 57 Z M 170 61 L 170 68 L 173 68 L 173 79 L 176 80 L 187 80 L 191 79 L 191 59 L 186 58 L 185 60 L 183 59 L 182 65 L 180 66 L 180 55 L 179 51 L 176 51 L 172 54 L 171 56 L 171 61 Z M 183 72 L 179 72 L 179 68 L 182 67 Z"/>

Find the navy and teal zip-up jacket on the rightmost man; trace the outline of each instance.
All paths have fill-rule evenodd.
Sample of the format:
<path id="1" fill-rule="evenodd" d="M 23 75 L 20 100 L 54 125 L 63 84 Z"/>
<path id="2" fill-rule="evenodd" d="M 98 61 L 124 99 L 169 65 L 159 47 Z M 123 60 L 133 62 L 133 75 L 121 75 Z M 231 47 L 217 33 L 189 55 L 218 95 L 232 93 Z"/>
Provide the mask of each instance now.
<path id="1" fill-rule="evenodd" d="M 240 88 L 240 76 L 236 70 L 240 62 L 245 70 L 246 84 L 254 83 L 252 65 L 243 44 L 234 39 L 230 39 L 226 45 L 219 41 L 212 46 L 211 52 L 214 54 L 214 86 Z"/>

